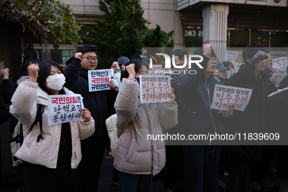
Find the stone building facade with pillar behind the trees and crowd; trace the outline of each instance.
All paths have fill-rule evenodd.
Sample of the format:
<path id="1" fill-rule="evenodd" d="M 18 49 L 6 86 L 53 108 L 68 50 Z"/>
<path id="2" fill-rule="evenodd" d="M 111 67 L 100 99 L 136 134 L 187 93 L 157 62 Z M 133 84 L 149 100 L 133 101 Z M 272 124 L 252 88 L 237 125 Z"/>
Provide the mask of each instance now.
<path id="1" fill-rule="evenodd" d="M 77 19 L 94 28 L 93 19 L 104 19 L 98 0 L 60 0 L 69 4 Z M 141 0 L 144 18 L 169 33 L 174 30 L 174 47 L 245 47 L 257 42 L 266 47 L 288 47 L 288 0 Z M 80 33 L 85 35 L 85 31 Z M 83 42 L 53 49 L 45 41 L 36 47 L 40 59 L 59 64 L 73 56 Z M 236 49 L 237 50 L 237 49 Z M 240 55 L 241 56 L 241 53 Z"/>

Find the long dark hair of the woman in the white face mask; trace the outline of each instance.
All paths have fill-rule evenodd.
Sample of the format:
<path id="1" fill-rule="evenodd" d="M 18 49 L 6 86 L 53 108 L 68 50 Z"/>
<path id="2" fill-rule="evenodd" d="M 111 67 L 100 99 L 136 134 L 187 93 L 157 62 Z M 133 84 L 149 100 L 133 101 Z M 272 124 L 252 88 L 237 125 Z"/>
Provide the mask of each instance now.
<path id="1" fill-rule="evenodd" d="M 52 65 L 57 67 L 61 71 L 61 73 L 64 74 L 63 70 L 61 69 L 61 67 L 56 62 L 54 62 L 52 60 L 46 60 L 46 61 L 43 61 L 41 64 L 39 64 L 39 71 L 38 71 L 38 78 L 37 78 L 38 86 L 43 91 L 45 91 L 48 95 L 53 95 L 53 93 L 51 93 L 46 88 L 46 85 L 44 83 L 45 83 L 46 78 L 49 76 Z"/>

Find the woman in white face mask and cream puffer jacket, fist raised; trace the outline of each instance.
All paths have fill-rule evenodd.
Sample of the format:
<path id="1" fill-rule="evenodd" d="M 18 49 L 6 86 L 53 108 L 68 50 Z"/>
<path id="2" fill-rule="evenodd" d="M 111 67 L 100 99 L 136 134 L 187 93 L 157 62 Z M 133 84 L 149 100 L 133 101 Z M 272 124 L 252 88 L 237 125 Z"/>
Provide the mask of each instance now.
<path id="1" fill-rule="evenodd" d="M 91 136 L 94 119 L 82 108 L 83 121 L 48 125 L 48 95 L 74 94 L 65 87 L 63 70 L 54 61 L 28 67 L 29 80 L 19 84 L 10 113 L 23 125 L 24 141 L 15 156 L 23 160 L 26 192 L 76 192 L 76 167 L 81 160 L 80 139 Z M 37 106 L 44 106 L 42 131 L 35 121 Z"/>

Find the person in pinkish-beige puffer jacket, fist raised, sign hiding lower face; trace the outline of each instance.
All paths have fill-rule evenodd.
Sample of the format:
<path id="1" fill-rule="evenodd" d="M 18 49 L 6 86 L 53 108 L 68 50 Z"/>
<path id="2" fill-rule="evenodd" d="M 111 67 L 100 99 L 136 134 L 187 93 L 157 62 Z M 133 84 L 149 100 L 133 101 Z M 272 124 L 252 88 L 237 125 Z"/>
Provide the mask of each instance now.
<path id="1" fill-rule="evenodd" d="M 114 167 L 120 177 L 120 192 L 152 192 L 153 175 L 165 165 L 165 146 L 164 141 L 150 140 L 147 135 L 162 134 L 178 123 L 173 88 L 168 93 L 170 101 L 141 104 L 138 80 L 148 74 L 148 68 L 139 59 L 126 64 L 114 105 L 119 138 Z"/>

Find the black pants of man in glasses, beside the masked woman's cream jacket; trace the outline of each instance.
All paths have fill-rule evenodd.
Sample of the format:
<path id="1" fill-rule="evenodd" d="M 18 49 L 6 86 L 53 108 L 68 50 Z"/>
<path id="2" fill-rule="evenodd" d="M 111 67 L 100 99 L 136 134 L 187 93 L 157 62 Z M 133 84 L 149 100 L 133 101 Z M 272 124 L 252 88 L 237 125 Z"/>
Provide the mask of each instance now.
<path id="1" fill-rule="evenodd" d="M 82 160 L 77 167 L 77 192 L 97 192 L 107 135 L 81 140 Z"/>

